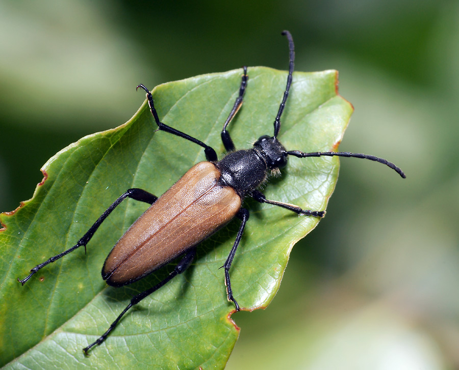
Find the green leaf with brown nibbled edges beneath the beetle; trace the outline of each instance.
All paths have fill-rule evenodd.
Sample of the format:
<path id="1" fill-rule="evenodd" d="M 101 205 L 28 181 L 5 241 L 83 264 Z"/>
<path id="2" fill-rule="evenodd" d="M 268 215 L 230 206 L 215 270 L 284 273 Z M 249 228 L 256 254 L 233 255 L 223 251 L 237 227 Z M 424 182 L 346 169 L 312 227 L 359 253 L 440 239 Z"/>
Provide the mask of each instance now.
<path id="1" fill-rule="evenodd" d="M 162 84 L 153 91 L 161 120 L 223 154 L 220 130 L 238 94 L 241 70 Z M 244 104 L 231 132 L 237 148 L 272 135 L 287 72 L 249 68 Z M 288 150 L 336 150 L 352 112 L 337 95 L 336 71 L 295 72 L 279 140 Z M 139 95 L 140 99 L 140 95 Z M 110 107 L 107 107 L 110 109 Z M 182 275 L 132 308 L 91 356 L 82 348 L 108 329 L 130 298 L 164 278 L 173 265 L 115 289 L 101 279 L 106 255 L 147 205 L 127 200 L 87 245 L 40 270 L 23 287 L 16 280 L 71 247 L 126 189 L 162 194 L 193 164 L 201 147 L 157 126 L 144 103 L 115 129 L 71 144 L 44 166 L 31 200 L 3 213 L 0 233 L 0 365 L 19 369 L 223 368 L 238 337 L 230 319 L 223 265 L 240 224 L 233 220 L 198 247 Z M 267 198 L 323 210 L 338 176 L 337 158 L 290 158 Z M 292 246 L 317 224 L 315 217 L 246 200 L 251 210 L 230 271 L 244 309 L 274 297 Z"/>

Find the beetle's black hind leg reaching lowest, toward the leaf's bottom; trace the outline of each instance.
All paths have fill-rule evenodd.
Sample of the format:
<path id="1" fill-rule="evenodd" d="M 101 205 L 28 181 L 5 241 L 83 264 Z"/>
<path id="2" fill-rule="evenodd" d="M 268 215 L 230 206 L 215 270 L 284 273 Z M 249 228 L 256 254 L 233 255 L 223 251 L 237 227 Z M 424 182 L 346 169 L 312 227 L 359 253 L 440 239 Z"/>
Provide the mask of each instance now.
<path id="1" fill-rule="evenodd" d="M 166 282 L 168 282 L 170 279 L 172 279 L 174 276 L 184 272 L 190 265 L 191 262 L 193 261 L 194 257 L 196 255 L 196 248 L 192 248 L 189 251 L 185 253 L 185 257 L 175 266 L 175 269 L 167 276 L 163 281 L 159 282 L 156 284 L 154 287 L 147 289 L 146 291 L 137 294 L 131 299 L 131 303 L 129 303 L 126 308 L 123 309 L 121 314 L 116 318 L 116 320 L 110 325 L 109 329 L 102 334 L 96 341 L 91 343 L 88 347 L 83 348 L 83 352 L 85 353 L 86 356 L 88 356 L 88 351 L 94 347 L 95 345 L 101 344 L 107 336 L 110 334 L 110 332 L 116 327 L 116 324 L 118 324 L 119 320 L 123 317 L 123 315 L 126 313 L 127 310 L 129 310 L 132 306 L 135 304 L 139 303 L 142 299 L 145 297 L 149 296 L 151 293 L 157 291 L 160 289 Z"/>

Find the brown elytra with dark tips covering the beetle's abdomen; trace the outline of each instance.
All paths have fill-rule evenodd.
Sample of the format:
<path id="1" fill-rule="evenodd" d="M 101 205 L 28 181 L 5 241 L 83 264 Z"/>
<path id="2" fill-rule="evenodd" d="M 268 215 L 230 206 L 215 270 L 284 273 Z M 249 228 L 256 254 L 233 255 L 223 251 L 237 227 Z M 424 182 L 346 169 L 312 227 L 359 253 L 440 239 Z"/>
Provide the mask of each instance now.
<path id="1" fill-rule="evenodd" d="M 200 162 L 151 205 L 110 251 L 102 276 L 123 286 L 149 274 L 231 221 L 241 198 L 219 185 L 220 171 Z"/>

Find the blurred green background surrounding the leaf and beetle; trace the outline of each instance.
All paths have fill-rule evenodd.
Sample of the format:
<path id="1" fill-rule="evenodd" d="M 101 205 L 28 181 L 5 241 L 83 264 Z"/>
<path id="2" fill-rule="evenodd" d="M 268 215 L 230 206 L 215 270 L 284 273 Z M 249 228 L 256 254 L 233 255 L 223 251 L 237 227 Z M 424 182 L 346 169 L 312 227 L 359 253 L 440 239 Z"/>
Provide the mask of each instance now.
<path id="1" fill-rule="evenodd" d="M 0 211 L 32 196 L 57 151 L 129 119 L 139 82 L 287 69 L 284 29 L 296 70 L 340 71 L 355 107 L 340 149 L 407 179 L 341 161 L 273 303 L 233 316 L 227 369 L 458 368 L 457 1 L 2 1 Z"/>

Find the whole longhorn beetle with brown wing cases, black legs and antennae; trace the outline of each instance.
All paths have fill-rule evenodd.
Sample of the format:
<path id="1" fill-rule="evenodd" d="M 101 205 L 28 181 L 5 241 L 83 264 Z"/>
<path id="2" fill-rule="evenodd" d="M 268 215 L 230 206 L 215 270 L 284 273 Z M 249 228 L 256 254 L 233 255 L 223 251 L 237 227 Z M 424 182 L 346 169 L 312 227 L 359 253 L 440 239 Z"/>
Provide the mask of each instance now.
<path id="1" fill-rule="evenodd" d="M 127 310 L 161 288 L 174 276 L 185 271 L 196 255 L 196 246 L 234 217 L 241 219 L 241 225 L 230 254 L 228 254 L 222 267 L 224 268 L 228 300 L 233 301 L 238 311 L 239 304 L 231 289 L 229 271 L 236 249 L 241 241 L 245 224 L 249 218 L 249 211 L 242 207 L 244 198 L 252 197 L 257 202 L 283 207 L 296 212 L 298 215 L 323 217 L 325 214 L 325 211 L 303 210 L 288 203 L 268 200 L 260 190 L 257 190 L 260 185 L 267 181 L 268 174 L 278 172 L 279 168 L 286 166 L 289 155 L 298 158 L 321 156 L 364 158 L 386 164 L 402 178 L 405 178 L 405 174 L 399 167 L 386 159 L 372 155 L 349 152 L 303 153 L 298 150 L 288 151 L 279 143 L 277 135 L 281 130 L 281 116 L 292 84 L 295 57 L 293 39 L 290 32 L 284 31 L 282 35 L 286 36 L 289 42 L 289 74 L 284 97 L 274 120 L 273 136 L 260 136 L 251 149 L 236 150 L 230 133 L 226 131 L 226 127 L 242 105 L 248 79 L 247 67 L 243 67 L 239 96 L 236 98 L 230 115 L 223 124 L 221 131 L 223 146 L 228 152 L 221 160 L 218 160 L 215 150 L 202 141 L 162 123 L 158 117 L 150 91 L 143 84 L 139 84 L 137 89 L 145 90 L 148 105 L 158 129 L 183 137 L 201 146 L 204 148 L 207 161 L 191 167 L 179 181 L 159 198 L 143 189 L 133 188 L 127 190 L 94 222 L 77 244 L 35 266 L 30 270 L 29 276 L 24 279 L 18 279 L 23 285 L 33 274 L 47 264 L 60 259 L 83 245 L 86 248 L 86 244 L 100 224 L 125 198 L 129 197 L 151 205 L 131 225 L 129 230 L 110 251 L 102 268 L 103 279 L 113 287 L 121 287 L 141 279 L 177 257 L 182 257 L 182 259 L 163 281 L 134 296 L 110 325 L 109 329 L 96 341 L 83 349 L 86 355 L 90 348 L 99 345 L 107 338 Z"/>

